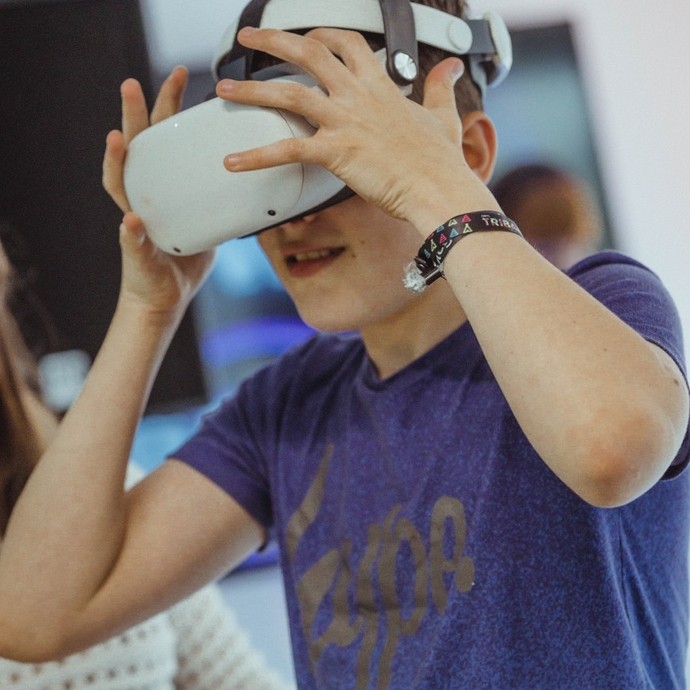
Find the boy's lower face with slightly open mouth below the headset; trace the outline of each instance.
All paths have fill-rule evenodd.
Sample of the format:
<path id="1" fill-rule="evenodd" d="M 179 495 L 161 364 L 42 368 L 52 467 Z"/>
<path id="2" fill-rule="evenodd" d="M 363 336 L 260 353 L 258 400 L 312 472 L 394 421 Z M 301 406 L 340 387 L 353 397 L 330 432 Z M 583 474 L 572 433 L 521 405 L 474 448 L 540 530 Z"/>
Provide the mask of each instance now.
<path id="1" fill-rule="evenodd" d="M 421 236 L 359 197 L 267 230 L 259 243 L 302 319 L 318 330 L 362 330 L 419 308 L 402 278 Z"/>

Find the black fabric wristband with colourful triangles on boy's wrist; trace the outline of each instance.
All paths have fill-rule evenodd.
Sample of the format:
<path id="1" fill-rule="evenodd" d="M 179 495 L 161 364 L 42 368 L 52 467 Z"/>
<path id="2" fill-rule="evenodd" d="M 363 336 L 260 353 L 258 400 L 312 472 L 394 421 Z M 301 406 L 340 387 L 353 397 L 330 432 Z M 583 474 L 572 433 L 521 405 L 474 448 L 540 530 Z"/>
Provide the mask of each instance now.
<path id="1" fill-rule="evenodd" d="M 450 248 L 474 232 L 499 230 L 522 237 L 515 221 L 495 211 L 476 211 L 454 216 L 439 225 L 424 241 L 414 261 L 407 266 L 403 280 L 412 292 L 422 293 L 427 285 L 443 278 L 443 262 Z"/>

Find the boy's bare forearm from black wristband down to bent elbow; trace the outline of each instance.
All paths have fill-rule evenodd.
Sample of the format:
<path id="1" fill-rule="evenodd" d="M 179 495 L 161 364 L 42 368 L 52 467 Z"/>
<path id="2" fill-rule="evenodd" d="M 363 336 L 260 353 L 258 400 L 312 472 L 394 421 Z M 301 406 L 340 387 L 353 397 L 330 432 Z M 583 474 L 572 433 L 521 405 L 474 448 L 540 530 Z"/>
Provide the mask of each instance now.
<path id="1" fill-rule="evenodd" d="M 632 500 L 683 437 L 687 391 L 670 358 L 523 239 L 479 233 L 445 275 L 520 426 L 585 500 Z"/>

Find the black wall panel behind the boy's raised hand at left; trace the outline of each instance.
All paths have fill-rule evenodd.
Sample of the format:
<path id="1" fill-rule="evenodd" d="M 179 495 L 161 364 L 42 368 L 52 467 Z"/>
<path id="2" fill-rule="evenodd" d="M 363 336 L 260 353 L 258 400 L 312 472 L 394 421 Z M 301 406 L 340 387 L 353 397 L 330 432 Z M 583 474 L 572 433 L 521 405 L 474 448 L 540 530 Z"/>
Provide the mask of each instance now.
<path id="1" fill-rule="evenodd" d="M 128 76 L 150 96 L 136 0 L 0 7 L 0 220 L 19 233 L 18 260 L 57 327 L 52 350 L 95 356 L 115 306 L 121 214 L 101 187 L 101 159 Z M 203 396 L 188 316 L 150 409 Z"/>

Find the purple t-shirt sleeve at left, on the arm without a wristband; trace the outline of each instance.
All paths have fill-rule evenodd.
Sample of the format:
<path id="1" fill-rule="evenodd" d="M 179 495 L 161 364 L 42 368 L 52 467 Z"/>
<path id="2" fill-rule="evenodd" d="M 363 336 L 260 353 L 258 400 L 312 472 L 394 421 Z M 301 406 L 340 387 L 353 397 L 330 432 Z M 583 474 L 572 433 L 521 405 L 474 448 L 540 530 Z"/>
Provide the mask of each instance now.
<path id="1" fill-rule="evenodd" d="M 308 433 L 300 426 L 310 417 L 305 398 L 322 399 L 307 391 L 330 390 L 334 372 L 360 349 L 355 335 L 342 334 L 318 334 L 297 345 L 246 379 L 170 457 L 208 477 L 270 533 L 280 458 L 291 439 Z"/>

